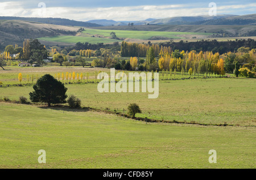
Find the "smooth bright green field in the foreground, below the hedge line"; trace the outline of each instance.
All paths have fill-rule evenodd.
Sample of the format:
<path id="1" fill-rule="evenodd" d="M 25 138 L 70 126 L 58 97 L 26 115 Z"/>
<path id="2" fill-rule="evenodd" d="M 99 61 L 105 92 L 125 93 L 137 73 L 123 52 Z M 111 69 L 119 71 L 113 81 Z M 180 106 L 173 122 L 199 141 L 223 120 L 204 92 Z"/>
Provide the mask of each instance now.
<path id="1" fill-rule="evenodd" d="M 255 168 L 255 129 L 0 103 L 0 168 Z M 39 149 L 47 164 L 38 163 Z M 217 164 L 208 152 L 217 151 Z"/>

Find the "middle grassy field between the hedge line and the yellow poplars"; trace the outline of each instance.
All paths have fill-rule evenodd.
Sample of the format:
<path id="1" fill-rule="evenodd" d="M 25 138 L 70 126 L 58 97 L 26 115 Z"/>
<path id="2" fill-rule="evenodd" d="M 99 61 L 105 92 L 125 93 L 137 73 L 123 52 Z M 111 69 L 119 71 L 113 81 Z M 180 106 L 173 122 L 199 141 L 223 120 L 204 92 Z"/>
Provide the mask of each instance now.
<path id="1" fill-rule="evenodd" d="M 77 71 L 76 71 L 77 72 Z M 255 79 L 193 79 L 160 81 L 159 97 L 148 99 L 148 93 L 99 93 L 97 84 L 66 85 L 68 95 L 76 95 L 84 106 L 109 108 L 123 112 L 137 103 L 138 117 L 181 122 L 199 122 L 255 126 Z M 32 86 L 0 88 L 4 96 L 18 100 L 28 98 Z"/>

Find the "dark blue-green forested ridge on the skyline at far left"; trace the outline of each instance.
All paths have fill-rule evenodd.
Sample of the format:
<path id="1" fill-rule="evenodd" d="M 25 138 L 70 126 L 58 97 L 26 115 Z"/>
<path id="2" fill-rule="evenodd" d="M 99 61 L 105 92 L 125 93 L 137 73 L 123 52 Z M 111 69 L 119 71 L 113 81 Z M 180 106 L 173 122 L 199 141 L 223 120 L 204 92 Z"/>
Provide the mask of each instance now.
<path id="1" fill-rule="evenodd" d="M 101 27 L 100 24 L 94 24 L 89 22 L 79 22 L 76 20 L 63 19 L 63 18 L 24 18 L 24 17 L 14 17 L 14 16 L 0 16 L 0 20 L 26 20 L 29 22 L 38 22 L 46 24 L 55 25 L 71 25 L 80 27 Z"/>

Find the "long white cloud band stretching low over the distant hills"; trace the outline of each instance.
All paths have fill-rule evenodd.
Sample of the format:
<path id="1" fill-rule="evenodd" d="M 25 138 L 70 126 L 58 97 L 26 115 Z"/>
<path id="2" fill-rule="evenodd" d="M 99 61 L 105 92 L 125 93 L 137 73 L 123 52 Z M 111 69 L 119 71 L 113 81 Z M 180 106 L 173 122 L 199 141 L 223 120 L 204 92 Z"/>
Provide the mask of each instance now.
<path id="1" fill-rule="evenodd" d="M 217 13 L 236 14 L 237 10 L 256 7 L 256 3 L 248 5 L 217 6 Z M 239 9 L 240 8 L 240 9 Z M 42 8 L 24 8 L 22 2 L 0 3 L 0 16 L 42 17 Z M 67 18 L 73 20 L 113 19 L 113 20 L 143 20 L 147 18 L 169 18 L 174 16 L 208 15 L 209 7 L 195 4 L 166 6 L 126 6 L 126 7 L 47 7 L 43 17 Z M 225 13 L 226 12 L 226 13 Z"/>

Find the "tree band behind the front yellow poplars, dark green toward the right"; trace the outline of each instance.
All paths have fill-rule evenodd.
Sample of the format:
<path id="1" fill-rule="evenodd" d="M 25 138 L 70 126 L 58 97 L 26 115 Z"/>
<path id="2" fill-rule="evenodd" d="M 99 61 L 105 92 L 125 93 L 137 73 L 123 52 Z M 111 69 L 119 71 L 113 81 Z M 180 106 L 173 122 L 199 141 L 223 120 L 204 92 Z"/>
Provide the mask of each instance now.
<path id="1" fill-rule="evenodd" d="M 159 44 L 137 44 L 131 42 L 123 41 L 121 44 L 121 56 L 122 57 L 146 57 L 147 50 L 150 47 L 154 48 L 155 56 L 160 53 L 160 50 L 165 51 L 168 49 L 169 53 L 173 50 L 184 50 L 185 52 L 190 52 L 195 50 L 197 53 L 203 52 L 213 52 L 224 54 L 227 52 L 237 52 L 241 47 L 256 49 L 256 42 L 253 39 L 248 40 L 234 40 L 234 41 L 217 41 L 217 40 L 200 40 L 197 42 L 161 42 Z M 165 49 L 164 49 L 165 48 Z"/>

